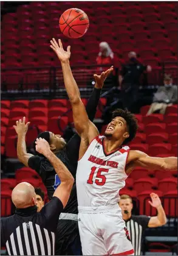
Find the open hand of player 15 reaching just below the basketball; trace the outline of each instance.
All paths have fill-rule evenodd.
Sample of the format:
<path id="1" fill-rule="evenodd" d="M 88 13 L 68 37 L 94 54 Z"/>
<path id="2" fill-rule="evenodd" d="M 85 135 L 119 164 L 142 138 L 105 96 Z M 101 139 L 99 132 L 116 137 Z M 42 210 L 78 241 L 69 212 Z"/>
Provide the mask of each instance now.
<path id="1" fill-rule="evenodd" d="M 56 42 L 55 38 L 52 38 L 52 40 L 50 40 L 50 48 L 53 49 L 53 51 L 56 53 L 56 55 L 58 56 L 58 59 L 61 62 L 65 62 L 66 60 L 70 59 L 70 46 L 67 46 L 67 51 L 64 51 L 63 49 L 63 44 L 61 42 L 61 40 L 58 40 L 58 43 Z"/>

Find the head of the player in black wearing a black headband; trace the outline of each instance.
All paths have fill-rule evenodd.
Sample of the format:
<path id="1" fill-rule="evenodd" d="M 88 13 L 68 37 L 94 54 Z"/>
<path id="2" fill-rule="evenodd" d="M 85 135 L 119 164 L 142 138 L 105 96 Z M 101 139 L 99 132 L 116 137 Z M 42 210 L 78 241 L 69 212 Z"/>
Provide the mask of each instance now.
<path id="1" fill-rule="evenodd" d="M 54 134 L 53 132 L 48 132 L 48 131 L 41 132 L 41 133 L 39 133 L 38 137 L 36 137 L 36 138 L 44 138 L 44 140 L 46 140 L 49 143 L 50 150 L 53 153 L 60 151 L 66 145 L 66 141 L 64 140 L 64 138 L 62 138 L 61 135 Z M 36 139 L 35 139 L 35 141 L 36 141 Z M 35 145 L 36 145 L 35 141 L 33 143 L 33 149 L 37 155 L 40 155 L 35 149 Z"/>

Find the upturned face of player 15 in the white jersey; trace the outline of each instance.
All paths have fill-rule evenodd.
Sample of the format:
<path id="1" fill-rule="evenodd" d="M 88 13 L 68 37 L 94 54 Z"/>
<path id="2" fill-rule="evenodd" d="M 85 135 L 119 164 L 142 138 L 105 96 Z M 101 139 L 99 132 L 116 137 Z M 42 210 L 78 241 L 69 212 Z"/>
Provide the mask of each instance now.
<path id="1" fill-rule="evenodd" d="M 124 118 L 117 116 L 108 124 L 104 135 L 106 137 L 115 138 L 115 140 L 123 138 L 123 141 L 129 137 L 127 124 Z"/>

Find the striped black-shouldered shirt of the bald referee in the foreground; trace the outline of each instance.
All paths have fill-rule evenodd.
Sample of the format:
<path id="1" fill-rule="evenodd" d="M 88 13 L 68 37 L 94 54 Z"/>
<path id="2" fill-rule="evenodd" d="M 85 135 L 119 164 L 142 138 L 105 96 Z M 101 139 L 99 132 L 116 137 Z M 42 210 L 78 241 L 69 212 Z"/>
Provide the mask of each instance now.
<path id="1" fill-rule="evenodd" d="M 1 219 L 1 246 L 9 255 L 55 255 L 55 233 L 63 204 L 53 197 L 41 212 L 37 208 L 16 209 Z"/>

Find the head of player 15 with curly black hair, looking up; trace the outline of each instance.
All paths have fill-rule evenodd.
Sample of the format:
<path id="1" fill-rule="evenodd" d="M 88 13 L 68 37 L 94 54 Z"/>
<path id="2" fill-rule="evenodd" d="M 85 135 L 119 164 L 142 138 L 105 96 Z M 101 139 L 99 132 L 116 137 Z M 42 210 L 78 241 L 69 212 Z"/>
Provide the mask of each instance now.
<path id="1" fill-rule="evenodd" d="M 127 144 L 133 140 L 138 129 L 137 119 L 128 110 L 117 109 L 112 112 L 112 121 L 108 124 L 104 135 L 107 138 L 120 140 Z"/>

